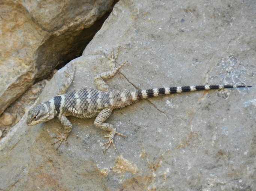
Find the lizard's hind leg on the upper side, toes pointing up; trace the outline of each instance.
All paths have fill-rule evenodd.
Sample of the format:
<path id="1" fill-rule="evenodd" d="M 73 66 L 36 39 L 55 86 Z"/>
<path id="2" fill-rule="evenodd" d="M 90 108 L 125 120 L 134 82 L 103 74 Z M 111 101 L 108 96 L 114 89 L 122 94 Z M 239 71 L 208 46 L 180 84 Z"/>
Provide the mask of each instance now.
<path id="1" fill-rule="evenodd" d="M 126 63 L 126 62 L 124 62 L 119 67 L 115 67 L 115 60 L 117 59 L 119 48 L 120 48 L 120 46 L 118 47 L 117 53 L 115 54 L 115 56 L 114 56 L 114 50 L 112 49 L 112 53 L 108 57 L 108 59 L 109 59 L 109 71 L 103 72 L 103 73 L 97 75 L 94 78 L 94 82 L 96 84 L 96 87 L 100 91 L 110 91 L 110 88 L 109 88 L 108 84 L 106 84 L 106 82 L 103 79 L 113 77 L 115 75 L 115 73 L 117 73 L 117 71 Z"/>

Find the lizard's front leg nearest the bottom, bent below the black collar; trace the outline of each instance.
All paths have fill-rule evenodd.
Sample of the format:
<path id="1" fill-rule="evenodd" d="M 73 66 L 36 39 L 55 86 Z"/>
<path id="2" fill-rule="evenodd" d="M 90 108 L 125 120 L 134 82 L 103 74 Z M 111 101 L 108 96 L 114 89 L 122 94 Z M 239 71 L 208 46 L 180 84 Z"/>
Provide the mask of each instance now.
<path id="1" fill-rule="evenodd" d="M 59 137 L 52 137 L 52 138 L 57 138 L 58 140 L 55 141 L 53 144 L 56 144 L 58 142 L 60 142 L 56 148 L 56 150 L 60 147 L 61 143 L 63 143 L 63 141 L 65 141 L 65 143 L 67 144 L 67 137 L 70 134 L 70 131 L 72 129 L 72 124 L 70 123 L 70 121 L 63 115 L 58 116 L 58 119 L 60 120 L 61 125 L 64 127 L 64 131 L 63 133 L 61 133 L 60 131 L 58 131 L 58 133 L 60 134 Z"/>

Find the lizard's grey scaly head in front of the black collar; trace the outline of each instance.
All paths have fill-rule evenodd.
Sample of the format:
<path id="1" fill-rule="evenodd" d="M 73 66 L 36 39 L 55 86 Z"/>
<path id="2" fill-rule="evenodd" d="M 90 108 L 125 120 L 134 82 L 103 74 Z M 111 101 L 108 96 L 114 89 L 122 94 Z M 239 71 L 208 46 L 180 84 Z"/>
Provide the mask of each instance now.
<path id="1" fill-rule="evenodd" d="M 54 118 L 51 102 L 40 103 L 28 111 L 27 125 L 32 126 Z"/>

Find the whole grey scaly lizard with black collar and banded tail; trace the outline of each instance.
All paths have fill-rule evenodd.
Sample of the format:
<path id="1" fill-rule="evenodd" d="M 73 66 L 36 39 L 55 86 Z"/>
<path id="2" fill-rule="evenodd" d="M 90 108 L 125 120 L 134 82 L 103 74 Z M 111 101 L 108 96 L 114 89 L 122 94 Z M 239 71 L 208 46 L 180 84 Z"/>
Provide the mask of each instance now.
<path id="1" fill-rule="evenodd" d="M 109 135 L 105 135 L 108 141 L 103 145 L 107 145 L 105 150 L 113 145 L 115 151 L 118 154 L 117 148 L 114 144 L 114 136 L 120 135 L 127 137 L 126 135 L 120 134 L 114 125 L 105 123 L 112 111 L 117 108 L 128 106 L 135 101 L 157 97 L 159 95 L 168 95 L 174 93 L 182 93 L 189 91 L 199 90 L 213 90 L 213 89 L 224 89 L 224 88 L 246 88 L 252 87 L 247 85 L 197 85 L 197 86 L 182 86 L 182 87 L 166 87 L 166 88 L 154 88 L 147 90 L 112 90 L 106 84 L 103 79 L 111 78 L 117 73 L 117 71 L 126 63 L 124 62 L 120 66 L 116 67 L 115 62 L 118 56 L 119 48 L 114 55 L 114 50 L 108 57 L 109 59 L 109 71 L 100 73 L 94 78 L 97 90 L 85 87 L 80 90 L 73 90 L 66 92 L 66 89 L 70 86 L 73 81 L 75 74 L 75 67 L 71 65 L 68 67 L 66 72 L 66 81 L 58 91 L 58 95 L 51 98 L 50 100 L 37 104 L 35 107 L 28 111 L 27 125 L 32 126 L 38 123 L 46 122 L 53 119 L 55 116 L 64 127 L 63 132 L 57 131 L 60 136 L 52 137 L 57 138 L 53 144 L 58 143 L 56 150 L 60 147 L 63 141 L 67 144 L 67 137 L 72 129 L 72 124 L 66 118 L 66 116 L 75 116 L 77 118 L 95 118 L 94 125 L 97 128 L 109 131 Z M 66 93 L 65 93 L 66 92 Z"/>

